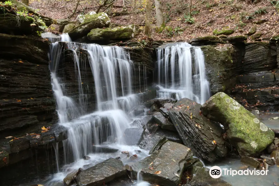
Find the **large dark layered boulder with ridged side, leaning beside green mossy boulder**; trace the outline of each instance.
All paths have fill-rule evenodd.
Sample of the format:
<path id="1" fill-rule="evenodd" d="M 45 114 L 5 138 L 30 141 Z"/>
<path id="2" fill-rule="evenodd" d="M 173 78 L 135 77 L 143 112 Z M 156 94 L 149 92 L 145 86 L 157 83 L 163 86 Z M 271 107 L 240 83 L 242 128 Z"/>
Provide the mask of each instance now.
<path id="1" fill-rule="evenodd" d="M 200 113 L 200 104 L 183 98 L 169 110 L 169 116 L 183 143 L 202 159 L 214 162 L 227 154 L 222 128 Z"/>

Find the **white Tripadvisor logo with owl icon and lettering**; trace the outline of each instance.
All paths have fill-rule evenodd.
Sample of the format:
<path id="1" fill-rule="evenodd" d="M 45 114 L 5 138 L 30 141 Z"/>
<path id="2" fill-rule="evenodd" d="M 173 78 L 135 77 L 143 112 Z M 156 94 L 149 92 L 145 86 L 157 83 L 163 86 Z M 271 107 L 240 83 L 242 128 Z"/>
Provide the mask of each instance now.
<path id="1" fill-rule="evenodd" d="M 235 175 L 267 175 L 268 170 L 246 169 L 246 170 L 237 171 L 237 170 L 224 168 L 222 171 L 219 166 L 213 166 L 209 170 L 209 175 L 212 178 L 219 178 L 222 175 L 222 172 L 224 173 L 223 175 L 231 175 L 231 176 L 235 176 Z"/>

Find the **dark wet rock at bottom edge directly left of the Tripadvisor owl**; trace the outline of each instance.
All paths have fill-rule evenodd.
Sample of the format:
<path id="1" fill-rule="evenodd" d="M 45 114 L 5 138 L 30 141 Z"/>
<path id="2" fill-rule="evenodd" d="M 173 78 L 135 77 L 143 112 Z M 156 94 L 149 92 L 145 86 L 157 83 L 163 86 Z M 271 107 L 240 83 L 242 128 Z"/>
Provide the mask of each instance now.
<path id="1" fill-rule="evenodd" d="M 201 162 L 193 164 L 193 170 L 191 172 L 193 178 L 189 182 L 189 186 L 231 186 L 231 184 L 225 182 L 220 178 L 212 178 L 209 174 L 209 169 L 204 168 Z"/>

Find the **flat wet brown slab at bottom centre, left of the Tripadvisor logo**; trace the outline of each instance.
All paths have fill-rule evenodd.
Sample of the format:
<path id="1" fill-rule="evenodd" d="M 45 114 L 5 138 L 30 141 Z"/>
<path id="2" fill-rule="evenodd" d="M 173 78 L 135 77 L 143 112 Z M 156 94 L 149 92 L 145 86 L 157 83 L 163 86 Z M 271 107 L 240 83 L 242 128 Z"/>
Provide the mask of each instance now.
<path id="1" fill-rule="evenodd" d="M 137 175 L 137 170 L 142 168 L 141 174 L 144 181 L 161 186 L 176 186 L 180 183 L 184 164 L 192 157 L 193 153 L 188 147 L 168 141 L 160 150 L 135 163 L 132 166 L 133 175 Z M 150 165 L 151 162 L 153 162 L 152 165 Z"/>

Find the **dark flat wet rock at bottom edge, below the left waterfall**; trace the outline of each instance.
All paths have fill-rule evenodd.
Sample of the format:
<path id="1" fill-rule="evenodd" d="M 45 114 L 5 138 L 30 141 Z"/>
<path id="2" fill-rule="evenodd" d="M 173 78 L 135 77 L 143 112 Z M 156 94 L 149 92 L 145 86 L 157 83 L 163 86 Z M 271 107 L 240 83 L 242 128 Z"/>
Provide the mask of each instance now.
<path id="1" fill-rule="evenodd" d="M 127 171 L 122 161 L 109 158 L 93 167 L 82 170 L 76 177 L 76 182 L 80 186 L 99 186 L 126 174 Z"/>

